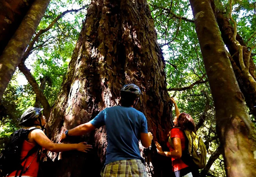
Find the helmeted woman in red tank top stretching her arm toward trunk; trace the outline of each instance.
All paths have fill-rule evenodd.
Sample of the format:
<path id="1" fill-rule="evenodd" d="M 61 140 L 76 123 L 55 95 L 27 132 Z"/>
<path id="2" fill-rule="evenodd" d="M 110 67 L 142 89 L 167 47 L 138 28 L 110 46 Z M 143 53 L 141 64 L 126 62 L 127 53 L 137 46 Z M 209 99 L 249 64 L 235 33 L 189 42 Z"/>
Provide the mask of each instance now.
<path id="1" fill-rule="evenodd" d="M 20 160 L 27 156 L 29 151 L 33 151 L 32 149 L 36 149 L 33 153 L 30 153 L 26 160 L 22 162 L 23 169 L 25 171 L 16 170 L 9 174 L 7 177 L 37 177 L 38 168 L 39 168 L 39 151 L 41 148 L 44 148 L 48 151 L 52 152 L 62 152 L 62 151 L 70 151 L 77 150 L 81 152 L 88 152 L 92 146 L 87 145 L 86 142 L 80 142 L 78 144 L 58 144 L 53 143 L 44 133 L 44 126 L 46 125 L 46 120 L 42 115 L 41 111 L 43 109 L 37 107 L 28 108 L 21 116 L 19 125 L 24 126 L 26 129 L 31 129 L 28 134 L 26 140 L 24 140 Z M 38 148 L 37 148 L 37 147 Z"/>

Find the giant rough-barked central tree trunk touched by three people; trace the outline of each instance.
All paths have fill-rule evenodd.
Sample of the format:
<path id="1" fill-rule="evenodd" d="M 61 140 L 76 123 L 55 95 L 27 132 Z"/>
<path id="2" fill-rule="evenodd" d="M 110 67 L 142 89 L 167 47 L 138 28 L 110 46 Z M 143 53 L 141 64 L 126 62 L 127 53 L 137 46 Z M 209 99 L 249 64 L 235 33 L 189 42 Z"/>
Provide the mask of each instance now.
<path id="1" fill-rule="evenodd" d="M 92 0 L 52 108 L 49 137 L 58 142 L 63 128 L 74 128 L 105 107 L 118 105 L 119 90 L 127 83 L 135 83 L 142 90 L 137 109 L 145 114 L 154 139 L 164 141 L 172 126 L 171 102 L 148 4 L 145 0 Z M 53 176 L 99 177 L 107 146 L 105 128 L 68 142 L 81 140 L 93 144 L 94 150 L 88 154 L 62 153 L 62 160 L 52 166 L 52 170 L 57 169 Z M 159 161 L 155 148 L 154 152 L 141 149 L 148 176 L 171 176 L 170 158 Z M 57 159 L 56 154 L 50 157 Z"/>

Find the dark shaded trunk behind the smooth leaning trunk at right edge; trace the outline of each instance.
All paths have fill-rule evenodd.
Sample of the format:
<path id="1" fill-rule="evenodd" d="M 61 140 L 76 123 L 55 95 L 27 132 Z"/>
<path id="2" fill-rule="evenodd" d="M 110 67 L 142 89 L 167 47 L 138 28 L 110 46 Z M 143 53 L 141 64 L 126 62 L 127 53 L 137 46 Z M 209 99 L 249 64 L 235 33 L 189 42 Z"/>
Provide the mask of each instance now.
<path id="1" fill-rule="evenodd" d="M 256 89 L 253 87 L 253 84 L 250 82 L 250 78 L 247 77 L 246 74 L 242 72 L 240 63 L 239 63 L 239 49 L 238 46 L 236 45 L 236 42 L 233 40 L 233 34 L 234 34 L 234 29 L 233 26 L 231 26 L 229 20 L 227 17 L 224 16 L 223 12 L 221 11 L 216 11 L 215 12 L 215 17 L 218 22 L 218 26 L 221 31 L 221 36 L 226 44 L 230 55 L 232 56 L 230 58 L 231 64 L 234 70 L 234 73 L 236 75 L 236 79 L 238 81 L 239 87 L 241 89 L 241 92 L 244 94 L 245 101 L 247 106 L 250 108 L 250 112 L 253 114 L 254 118 L 256 118 Z M 243 39 L 241 38 L 240 35 L 236 36 L 236 40 L 239 41 L 239 43 L 242 46 L 246 46 L 244 44 Z M 247 47 L 243 48 L 243 54 L 244 54 L 244 63 L 245 58 L 248 57 L 248 49 Z M 255 79 L 255 64 L 253 62 L 253 59 L 250 57 L 250 67 L 249 67 L 249 72 L 252 75 L 252 77 Z"/>

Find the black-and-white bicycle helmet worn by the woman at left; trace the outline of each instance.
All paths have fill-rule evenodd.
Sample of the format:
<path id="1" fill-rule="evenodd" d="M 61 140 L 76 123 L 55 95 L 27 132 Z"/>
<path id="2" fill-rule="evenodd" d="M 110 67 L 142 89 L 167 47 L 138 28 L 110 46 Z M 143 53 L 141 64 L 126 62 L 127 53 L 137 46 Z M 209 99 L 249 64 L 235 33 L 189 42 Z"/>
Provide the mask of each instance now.
<path id="1" fill-rule="evenodd" d="M 30 127 L 34 125 L 34 122 L 41 115 L 42 108 L 29 107 L 20 117 L 19 125 Z M 41 123 L 41 121 L 40 121 Z"/>

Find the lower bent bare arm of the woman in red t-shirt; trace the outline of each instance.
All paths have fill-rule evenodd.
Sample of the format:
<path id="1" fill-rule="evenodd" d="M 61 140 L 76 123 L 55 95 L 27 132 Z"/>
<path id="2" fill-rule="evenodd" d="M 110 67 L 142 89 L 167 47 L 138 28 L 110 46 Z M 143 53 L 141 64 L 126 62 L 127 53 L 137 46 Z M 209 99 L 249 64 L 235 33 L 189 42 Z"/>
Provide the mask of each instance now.
<path id="1" fill-rule="evenodd" d="M 160 155 L 167 156 L 167 157 L 173 157 L 173 158 L 181 158 L 182 155 L 182 149 L 181 149 L 181 141 L 180 138 L 172 138 L 173 143 L 173 151 L 163 151 L 162 147 L 158 142 L 156 142 L 157 152 Z"/>

